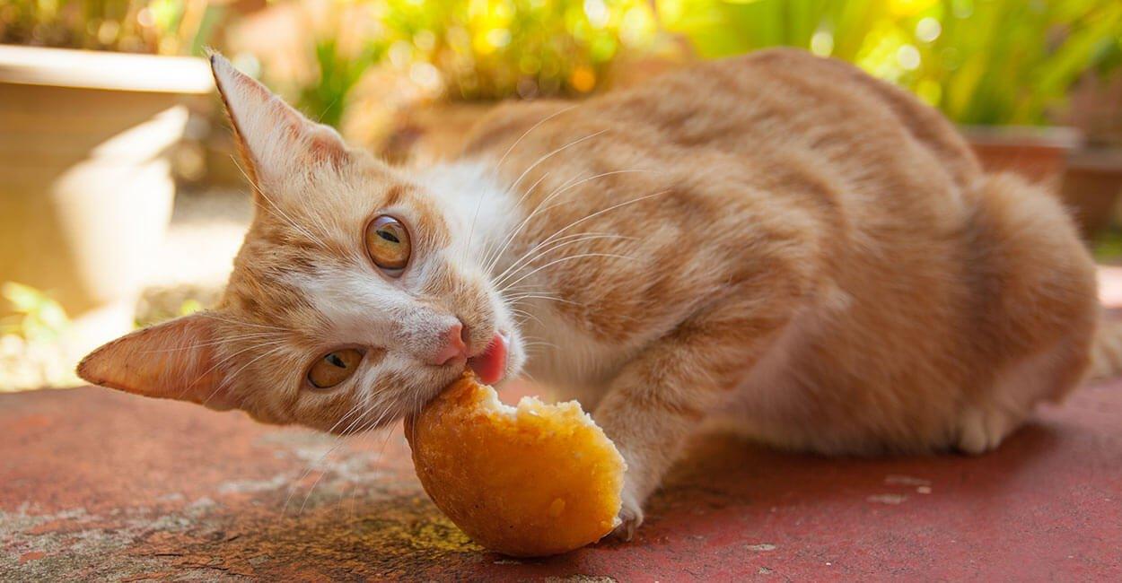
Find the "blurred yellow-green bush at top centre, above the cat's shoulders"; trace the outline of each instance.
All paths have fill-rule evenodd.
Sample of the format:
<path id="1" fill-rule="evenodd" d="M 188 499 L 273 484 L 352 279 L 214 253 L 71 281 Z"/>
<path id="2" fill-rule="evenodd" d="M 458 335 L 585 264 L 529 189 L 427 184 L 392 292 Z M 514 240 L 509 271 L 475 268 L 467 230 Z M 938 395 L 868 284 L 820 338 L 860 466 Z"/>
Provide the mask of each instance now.
<path id="1" fill-rule="evenodd" d="M 643 0 L 387 0 L 392 64 L 453 99 L 581 94 L 656 26 Z"/>

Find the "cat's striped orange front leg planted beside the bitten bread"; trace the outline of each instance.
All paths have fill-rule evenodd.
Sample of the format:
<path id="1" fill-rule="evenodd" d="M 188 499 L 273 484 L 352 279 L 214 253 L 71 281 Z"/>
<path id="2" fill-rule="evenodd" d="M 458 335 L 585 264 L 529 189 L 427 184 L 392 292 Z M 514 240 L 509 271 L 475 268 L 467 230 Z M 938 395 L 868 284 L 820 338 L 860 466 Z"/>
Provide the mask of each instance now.
<path id="1" fill-rule="evenodd" d="M 613 380 L 594 417 L 627 462 L 617 536 L 631 538 L 643 521 L 643 503 L 687 438 L 743 381 L 791 311 L 727 302 L 679 325 Z"/>

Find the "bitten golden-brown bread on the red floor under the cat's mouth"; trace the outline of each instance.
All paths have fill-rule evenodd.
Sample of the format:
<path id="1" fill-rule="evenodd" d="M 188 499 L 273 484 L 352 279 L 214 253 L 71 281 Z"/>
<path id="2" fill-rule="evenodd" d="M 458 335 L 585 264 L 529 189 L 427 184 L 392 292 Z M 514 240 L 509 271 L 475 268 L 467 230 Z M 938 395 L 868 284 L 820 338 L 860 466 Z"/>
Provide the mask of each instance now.
<path id="1" fill-rule="evenodd" d="M 425 491 L 491 550 L 555 555 L 616 525 L 626 466 L 576 401 L 508 407 L 466 372 L 406 419 L 405 435 Z"/>

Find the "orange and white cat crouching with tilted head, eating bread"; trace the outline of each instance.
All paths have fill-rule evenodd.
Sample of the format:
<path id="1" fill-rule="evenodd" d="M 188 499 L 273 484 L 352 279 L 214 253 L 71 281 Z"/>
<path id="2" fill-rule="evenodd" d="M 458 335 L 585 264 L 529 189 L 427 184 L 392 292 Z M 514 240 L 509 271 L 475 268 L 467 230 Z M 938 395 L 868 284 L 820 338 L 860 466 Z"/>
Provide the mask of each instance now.
<path id="1" fill-rule="evenodd" d="M 1061 204 L 838 61 L 503 104 L 427 169 L 211 62 L 256 216 L 220 305 L 91 353 L 95 385 L 349 434 L 526 371 L 624 455 L 629 537 L 701 426 L 977 454 L 1116 360 Z"/>

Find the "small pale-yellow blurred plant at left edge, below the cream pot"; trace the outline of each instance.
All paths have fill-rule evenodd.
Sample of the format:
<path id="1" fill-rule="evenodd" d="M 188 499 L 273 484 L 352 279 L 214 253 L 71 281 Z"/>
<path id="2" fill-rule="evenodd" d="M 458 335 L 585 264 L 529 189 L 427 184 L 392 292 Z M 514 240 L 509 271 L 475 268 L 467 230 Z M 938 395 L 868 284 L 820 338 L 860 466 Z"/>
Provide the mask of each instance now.
<path id="1" fill-rule="evenodd" d="M 12 316 L 0 320 L 0 391 L 76 385 L 63 334 L 70 320 L 57 302 L 29 286 L 0 285 Z"/>

